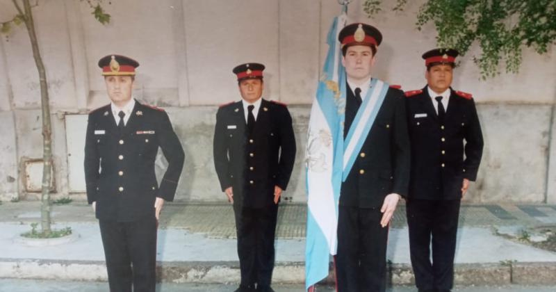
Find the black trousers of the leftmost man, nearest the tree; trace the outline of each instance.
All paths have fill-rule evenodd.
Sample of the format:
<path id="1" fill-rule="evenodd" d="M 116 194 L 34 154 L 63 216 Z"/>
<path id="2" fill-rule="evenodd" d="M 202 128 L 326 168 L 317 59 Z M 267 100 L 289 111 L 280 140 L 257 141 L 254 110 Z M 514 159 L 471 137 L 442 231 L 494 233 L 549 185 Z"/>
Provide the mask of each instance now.
<path id="1" fill-rule="evenodd" d="M 156 218 L 135 222 L 99 220 L 111 292 L 154 292 Z"/>

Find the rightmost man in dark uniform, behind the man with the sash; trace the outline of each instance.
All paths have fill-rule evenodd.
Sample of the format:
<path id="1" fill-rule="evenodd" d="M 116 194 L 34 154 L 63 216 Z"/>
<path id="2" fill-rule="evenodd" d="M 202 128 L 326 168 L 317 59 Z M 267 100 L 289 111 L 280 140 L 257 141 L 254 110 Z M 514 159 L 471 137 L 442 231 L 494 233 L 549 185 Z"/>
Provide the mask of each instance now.
<path id="1" fill-rule="evenodd" d="M 454 49 L 427 51 L 427 86 L 406 92 L 411 140 L 407 222 L 419 291 L 452 289 L 459 204 L 469 181 L 477 178 L 482 156 L 473 98 L 450 88 L 457 55 Z"/>

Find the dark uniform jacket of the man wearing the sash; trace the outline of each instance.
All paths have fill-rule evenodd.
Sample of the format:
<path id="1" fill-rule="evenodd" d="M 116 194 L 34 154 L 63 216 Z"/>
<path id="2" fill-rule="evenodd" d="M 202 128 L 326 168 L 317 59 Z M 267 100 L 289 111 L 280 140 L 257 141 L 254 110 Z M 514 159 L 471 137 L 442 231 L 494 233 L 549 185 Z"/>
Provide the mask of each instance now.
<path id="1" fill-rule="evenodd" d="M 357 114 L 352 90 L 347 86 L 344 135 Z M 390 193 L 407 195 L 409 137 L 404 95 L 389 88 L 363 147 L 341 186 L 340 204 L 380 208 Z"/>

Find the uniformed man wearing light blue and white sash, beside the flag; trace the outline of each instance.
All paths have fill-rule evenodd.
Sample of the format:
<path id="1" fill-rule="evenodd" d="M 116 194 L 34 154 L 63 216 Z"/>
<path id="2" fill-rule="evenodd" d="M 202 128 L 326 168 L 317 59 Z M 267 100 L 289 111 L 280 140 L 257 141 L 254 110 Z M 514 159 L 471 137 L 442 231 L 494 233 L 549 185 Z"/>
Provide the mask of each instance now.
<path id="1" fill-rule="evenodd" d="M 371 79 L 377 47 L 382 41 L 378 29 L 368 24 L 350 24 L 342 29 L 338 40 L 347 75 L 345 149 L 350 149 L 349 138 L 354 129 L 371 124 L 358 120 L 359 115 L 366 110 L 377 112 L 370 130 L 361 135 L 361 149 L 352 154 L 353 166 L 341 185 L 336 254 L 338 291 L 385 291 L 388 226 L 409 183 L 404 97 L 401 90 Z M 385 86 L 380 89 L 379 84 Z M 375 95 L 379 92 L 382 95 Z M 381 96 L 382 104 L 370 106 Z"/>

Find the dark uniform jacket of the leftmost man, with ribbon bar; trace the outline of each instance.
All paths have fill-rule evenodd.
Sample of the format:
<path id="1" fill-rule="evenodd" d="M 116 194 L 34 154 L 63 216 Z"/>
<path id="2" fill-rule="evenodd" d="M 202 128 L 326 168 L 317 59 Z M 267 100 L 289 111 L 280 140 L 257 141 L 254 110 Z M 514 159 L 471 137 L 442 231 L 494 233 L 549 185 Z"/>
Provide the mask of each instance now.
<path id="1" fill-rule="evenodd" d="M 158 147 L 168 162 L 158 186 L 154 161 Z M 154 200 L 172 201 L 183 149 L 165 111 L 136 101 L 123 133 L 111 106 L 89 114 L 85 138 L 85 183 L 89 204 L 101 220 L 129 222 L 154 216 Z"/>

